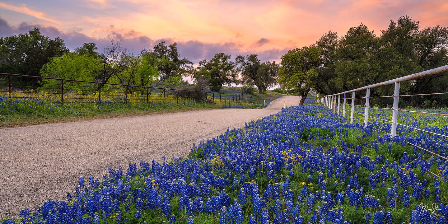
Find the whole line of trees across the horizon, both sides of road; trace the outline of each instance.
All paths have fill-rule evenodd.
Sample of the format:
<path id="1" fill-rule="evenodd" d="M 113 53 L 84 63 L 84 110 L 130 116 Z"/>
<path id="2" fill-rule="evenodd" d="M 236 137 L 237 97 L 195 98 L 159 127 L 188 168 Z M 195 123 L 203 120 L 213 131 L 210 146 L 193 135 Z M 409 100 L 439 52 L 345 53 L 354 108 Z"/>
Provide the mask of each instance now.
<path id="1" fill-rule="evenodd" d="M 220 52 L 194 67 L 191 60 L 180 56 L 176 43 L 166 45 L 164 41 L 136 53 L 111 39 L 103 53 L 97 50 L 95 43 L 84 43 L 69 51 L 64 40 L 50 39 L 34 28 L 28 34 L 0 37 L 0 72 L 165 87 L 176 86 L 183 82 L 182 77 L 190 76 L 198 86 L 209 86 L 213 91 L 237 83 L 256 86 L 262 93 L 280 84 L 284 93 L 306 99 L 310 90 L 321 95 L 334 94 L 447 65 L 448 29 L 421 28 L 412 17 L 404 16 L 391 21 L 377 36 L 361 23 L 345 35 L 330 30 L 316 43 L 290 50 L 281 57 L 280 64 L 261 62 L 257 54 L 239 55 L 231 60 L 230 55 Z M 0 86 L 4 83 L 0 80 Z M 14 78 L 13 83 L 24 89 L 57 84 L 29 78 Z M 402 95 L 440 92 L 448 92 L 447 74 L 401 83 Z M 392 93 L 391 86 L 370 92 L 372 96 Z M 391 101 L 379 98 L 372 103 Z M 409 97 L 401 103 L 444 106 L 448 104 L 448 95 Z"/>

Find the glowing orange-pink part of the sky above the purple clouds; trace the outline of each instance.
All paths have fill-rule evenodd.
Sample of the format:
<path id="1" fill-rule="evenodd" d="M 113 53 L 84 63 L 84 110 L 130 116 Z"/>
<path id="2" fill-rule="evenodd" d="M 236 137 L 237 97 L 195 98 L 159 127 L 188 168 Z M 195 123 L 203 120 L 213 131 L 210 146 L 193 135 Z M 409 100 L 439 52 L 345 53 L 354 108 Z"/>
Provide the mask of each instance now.
<path id="1" fill-rule="evenodd" d="M 63 9 L 39 8 L 38 4 L 32 11 L 25 4 L 3 3 L 0 8 L 15 12 L 27 9 L 27 14 L 47 21 L 52 21 L 47 16 L 52 15 L 63 21 L 57 26 L 60 30 L 95 39 L 115 34 L 124 39 L 145 36 L 198 41 L 204 46 L 235 43 L 241 52 L 303 47 L 315 43 L 328 30 L 343 35 L 359 23 L 380 35 L 390 20 L 405 15 L 420 21 L 422 27 L 448 26 L 448 4 L 440 0 L 81 0 L 65 4 L 70 11 L 64 14 L 53 13 Z M 254 44 L 260 39 L 269 41 Z"/>

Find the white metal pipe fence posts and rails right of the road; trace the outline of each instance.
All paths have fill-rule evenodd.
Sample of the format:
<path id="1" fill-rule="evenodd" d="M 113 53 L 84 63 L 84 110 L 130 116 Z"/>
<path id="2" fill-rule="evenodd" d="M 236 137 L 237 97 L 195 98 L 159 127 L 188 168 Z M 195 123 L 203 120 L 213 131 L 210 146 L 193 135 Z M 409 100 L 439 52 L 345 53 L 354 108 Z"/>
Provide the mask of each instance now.
<path id="1" fill-rule="evenodd" d="M 431 75 L 436 75 L 436 74 L 441 74 L 441 73 L 445 73 L 448 72 L 448 65 L 444 65 L 435 69 L 430 69 L 430 70 L 426 70 L 423 72 L 419 72 L 419 73 L 414 73 L 408 76 L 404 76 L 401 78 L 396 78 L 396 79 L 392 79 L 392 80 L 388 80 L 385 82 L 379 82 L 379 83 L 375 83 L 369 86 L 363 86 L 357 89 L 353 89 L 353 90 L 348 90 L 345 92 L 340 92 L 340 93 L 336 93 L 333 95 L 325 95 L 323 98 L 321 98 L 319 101 L 321 103 L 323 103 L 323 105 L 329 109 L 331 109 L 334 113 L 337 113 L 338 115 L 342 115 L 342 117 L 347 118 L 351 124 L 353 124 L 353 121 L 358 121 L 359 123 L 363 123 L 364 127 L 367 127 L 367 125 L 369 124 L 369 118 L 370 119 L 374 119 L 377 121 L 383 121 L 386 123 L 390 124 L 390 132 L 385 132 L 384 130 L 375 128 L 372 126 L 373 129 L 376 129 L 384 134 L 388 134 L 391 137 L 395 137 L 397 136 L 397 126 L 402 126 L 405 128 L 409 128 L 409 129 L 413 129 L 416 131 L 420 131 L 420 132 L 424 132 L 427 134 L 431 134 L 431 135 L 436 135 L 439 138 L 448 138 L 448 136 L 446 134 L 441 134 L 441 133 L 435 133 L 426 129 L 422 129 L 422 128 L 416 128 L 413 127 L 412 125 L 406 125 L 406 124 L 402 124 L 397 122 L 397 118 L 398 118 L 398 113 L 399 112 L 406 112 L 406 113 L 420 113 L 420 114 L 426 114 L 426 115 L 435 115 L 435 116 L 448 116 L 448 114 L 445 112 L 424 112 L 424 111 L 412 111 L 409 109 L 400 109 L 399 108 L 399 100 L 401 97 L 407 97 L 407 96 L 423 96 L 423 95 L 441 95 L 441 94 L 448 94 L 446 92 L 442 92 L 442 93 L 426 93 L 426 94 L 412 94 L 412 95 L 400 95 L 400 83 L 401 82 L 406 82 L 406 81 L 411 81 L 417 78 L 425 78 Z M 386 96 L 370 96 L 370 89 L 376 88 L 376 87 L 380 87 L 380 86 L 388 86 L 388 85 L 394 85 L 394 93 L 393 95 L 386 95 Z M 356 96 L 356 92 L 359 91 L 363 91 L 366 93 L 365 97 L 355 97 Z M 351 97 L 347 98 L 347 94 L 351 93 Z M 375 107 L 375 106 L 370 106 L 370 99 L 375 99 L 375 98 L 392 98 L 393 99 L 393 106 L 392 108 L 382 108 L 382 107 Z M 347 99 L 351 99 L 351 103 L 347 102 Z M 363 99 L 365 101 L 364 105 L 356 105 L 355 104 L 355 99 Z M 342 100 L 342 101 L 341 101 Z M 346 106 L 350 106 L 350 109 L 346 109 Z M 355 107 L 358 108 L 359 112 L 355 112 Z M 387 111 L 392 111 L 392 119 L 391 120 L 387 120 L 381 117 L 376 117 L 376 116 L 371 116 L 369 114 L 369 108 L 375 108 L 375 109 L 379 109 L 379 110 L 387 110 Z M 363 109 L 363 113 L 362 113 L 362 109 Z M 346 115 L 346 111 L 350 112 L 350 115 Z M 357 119 L 354 118 L 355 114 L 357 115 L 361 115 L 361 117 L 364 117 L 363 121 L 359 121 Z M 399 134 L 398 134 L 399 135 Z M 446 140 L 446 139 L 445 139 Z M 412 142 L 409 142 L 407 140 L 405 140 L 406 143 L 408 143 L 411 146 L 417 147 L 423 151 L 429 152 L 432 155 L 436 155 L 439 156 L 442 159 L 446 159 L 448 160 L 446 157 L 439 155 L 431 150 L 425 149 L 422 146 L 418 146 Z M 424 142 L 420 142 L 422 145 Z"/>

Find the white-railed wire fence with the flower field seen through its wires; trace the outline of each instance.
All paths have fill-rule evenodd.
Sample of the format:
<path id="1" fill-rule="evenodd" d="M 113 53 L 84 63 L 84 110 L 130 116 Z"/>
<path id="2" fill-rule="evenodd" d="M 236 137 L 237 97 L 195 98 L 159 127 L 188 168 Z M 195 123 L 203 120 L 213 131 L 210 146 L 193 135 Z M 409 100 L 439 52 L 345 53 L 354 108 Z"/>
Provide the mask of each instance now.
<path id="1" fill-rule="evenodd" d="M 380 133 L 389 135 L 392 139 L 400 139 L 401 142 L 413 146 L 414 150 L 419 149 L 448 160 L 448 112 L 444 110 L 399 108 L 400 100 L 405 102 L 403 100 L 405 97 L 448 94 L 447 92 L 440 92 L 400 95 L 400 83 L 412 82 L 417 78 L 425 78 L 445 72 L 448 72 L 448 65 L 354 90 L 326 95 L 319 101 L 351 124 L 357 121 L 359 124 L 363 124 L 366 129 L 375 129 Z M 390 87 L 391 85 L 394 88 L 393 95 L 370 96 L 371 89 L 381 86 Z M 347 97 L 348 94 L 350 94 L 350 98 Z M 365 96 L 360 97 L 359 95 Z M 372 100 L 383 98 L 389 99 L 392 108 L 370 106 Z M 386 103 L 386 105 L 390 104 Z"/>

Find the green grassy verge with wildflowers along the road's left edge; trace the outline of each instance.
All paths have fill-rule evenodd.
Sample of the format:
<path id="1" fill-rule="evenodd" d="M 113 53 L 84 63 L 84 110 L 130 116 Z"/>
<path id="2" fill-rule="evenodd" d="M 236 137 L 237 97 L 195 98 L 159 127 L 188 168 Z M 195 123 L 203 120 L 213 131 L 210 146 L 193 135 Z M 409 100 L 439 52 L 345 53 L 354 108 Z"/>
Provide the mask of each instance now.
<path id="1" fill-rule="evenodd" d="M 224 86 L 221 92 L 238 94 L 241 91 L 237 87 Z M 146 103 L 126 98 L 101 100 L 99 102 L 97 99 L 87 99 L 88 96 L 79 94 L 77 96 L 82 100 L 63 104 L 58 100 L 46 99 L 50 94 L 41 95 L 29 92 L 22 95 L 16 94 L 15 96 L 17 98 L 14 98 L 11 104 L 9 104 L 7 97 L 0 97 L 0 128 L 213 108 L 263 108 L 263 100 L 267 106 L 273 99 L 283 95 L 270 91 L 262 94 L 250 92 L 232 105 L 226 105 L 224 99 L 221 101 L 219 99 L 214 99 L 214 101 L 202 100 L 200 102 L 195 102 L 194 99 L 191 99 L 190 102 L 188 99 L 181 99 L 177 103 L 175 99 L 167 98 L 167 103 L 163 103 L 160 102 L 162 99 L 159 95 L 151 95 L 150 103 Z M 171 101 L 168 102 L 168 100 Z"/>

